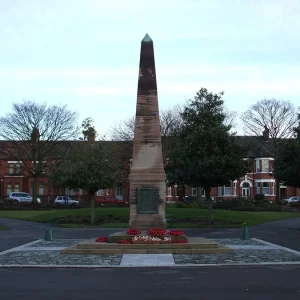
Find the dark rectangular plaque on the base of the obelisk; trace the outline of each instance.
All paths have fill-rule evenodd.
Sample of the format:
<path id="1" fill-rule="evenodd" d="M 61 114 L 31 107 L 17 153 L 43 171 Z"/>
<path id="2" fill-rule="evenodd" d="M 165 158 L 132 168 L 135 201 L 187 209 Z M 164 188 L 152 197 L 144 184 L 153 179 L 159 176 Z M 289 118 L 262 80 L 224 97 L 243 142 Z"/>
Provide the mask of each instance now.
<path id="1" fill-rule="evenodd" d="M 137 213 L 138 214 L 157 214 L 159 190 L 157 188 L 138 188 Z"/>

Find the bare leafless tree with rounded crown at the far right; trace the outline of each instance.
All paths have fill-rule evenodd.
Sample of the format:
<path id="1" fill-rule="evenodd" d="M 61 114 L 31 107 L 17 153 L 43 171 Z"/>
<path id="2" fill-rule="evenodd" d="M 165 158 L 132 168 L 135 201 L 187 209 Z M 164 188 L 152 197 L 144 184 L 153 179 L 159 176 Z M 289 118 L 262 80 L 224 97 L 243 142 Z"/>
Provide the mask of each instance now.
<path id="1" fill-rule="evenodd" d="M 276 157 L 277 149 L 282 139 L 294 135 L 298 122 L 298 109 L 289 101 L 264 99 L 252 105 L 241 116 L 244 131 L 247 135 L 258 138 L 266 151 Z M 279 201 L 279 181 L 276 185 L 276 200 Z"/>

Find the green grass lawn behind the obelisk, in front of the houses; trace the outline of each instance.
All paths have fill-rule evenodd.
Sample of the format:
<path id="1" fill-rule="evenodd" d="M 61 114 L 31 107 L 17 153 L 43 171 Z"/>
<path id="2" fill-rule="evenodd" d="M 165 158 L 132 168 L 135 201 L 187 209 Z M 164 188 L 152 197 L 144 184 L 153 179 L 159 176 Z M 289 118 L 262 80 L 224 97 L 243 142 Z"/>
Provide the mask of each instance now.
<path id="1" fill-rule="evenodd" d="M 58 217 L 65 217 L 69 215 L 74 216 L 88 216 L 90 213 L 89 208 L 82 209 L 57 209 L 57 210 L 15 210 L 15 211 L 0 211 L 0 218 L 13 218 L 28 220 L 42 223 L 53 223 Z M 175 208 L 168 207 L 167 213 L 172 214 L 173 218 L 185 219 L 182 223 L 174 222 L 173 227 L 192 228 L 192 227 L 207 227 L 207 225 L 197 224 L 192 219 L 205 219 L 208 217 L 207 209 L 198 208 Z M 126 207 L 106 207 L 97 208 L 96 215 L 101 216 L 113 216 L 113 217 L 128 217 L 129 208 Z M 257 225 L 265 222 L 276 221 L 281 219 L 289 219 L 300 217 L 300 212 L 243 212 L 243 211 L 230 211 L 230 210 L 214 210 L 215 220 L 223 220 L 225 224 L 218 225 L 217 227 L 241 227 L 243 222 L 248 225 Z M 189 219 L 191 221 L 189 222 Z M 240 224 L 226 224 L 226 221 L 236 222 Z M 75 228 L 75 227 L 90 227 L 86 224 L 59 224 L 59 226 Z M 105 223 L 94 227 L 104 228 L 126 228 L 127 223 Z"/>

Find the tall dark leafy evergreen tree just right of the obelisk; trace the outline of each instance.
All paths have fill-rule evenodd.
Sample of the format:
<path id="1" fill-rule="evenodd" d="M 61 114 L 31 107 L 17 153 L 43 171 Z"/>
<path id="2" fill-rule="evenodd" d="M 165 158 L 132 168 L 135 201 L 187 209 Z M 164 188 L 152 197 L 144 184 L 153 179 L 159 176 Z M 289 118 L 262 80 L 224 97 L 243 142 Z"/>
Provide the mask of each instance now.
<path id="1" fill-rule="evenodd" d="M 170 184 L 202 187 L 206 193 L 209 223 L 213 223 L 211 189 L 244 176 L 246 156 L 237 137 L 230 133 L 222 93 L 201 88 L 182 113 L 183 125 L 167 150 Z"/>

